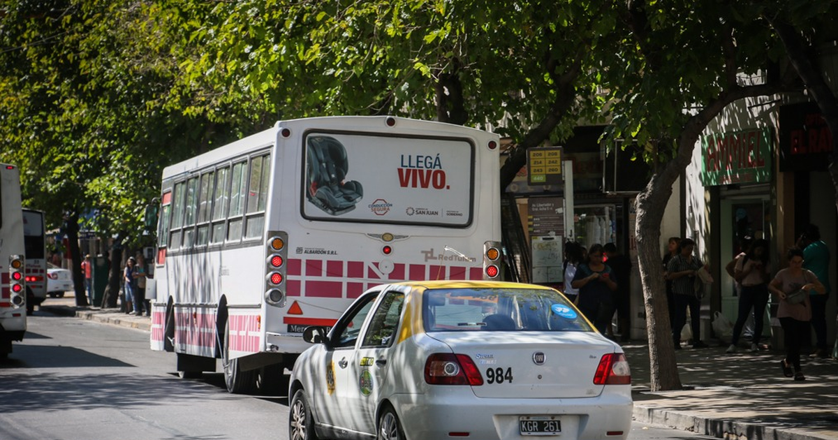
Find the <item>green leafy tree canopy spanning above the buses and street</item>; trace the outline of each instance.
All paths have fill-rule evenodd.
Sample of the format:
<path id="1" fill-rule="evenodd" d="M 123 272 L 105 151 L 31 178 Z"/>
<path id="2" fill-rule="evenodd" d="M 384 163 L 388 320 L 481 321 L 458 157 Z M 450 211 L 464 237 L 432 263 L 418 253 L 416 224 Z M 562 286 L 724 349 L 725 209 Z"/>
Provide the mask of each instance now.
<path id="1" fill-rule="evenodd" d="M 835 11 L 804 0 L 0 0 L 0 160 L 21 166 L 26 203 L 50 223 L 96 212 L 87 227 L 106 236 L 141 229 L 164 166 L 283 118 L 441 118 L 518 143 L 608 120 L 609 135 L 665 163 L 731 71 L 779 60 L 759 18 L 781 6 L 812 39 L 824 26 L 807 23 Z"/>

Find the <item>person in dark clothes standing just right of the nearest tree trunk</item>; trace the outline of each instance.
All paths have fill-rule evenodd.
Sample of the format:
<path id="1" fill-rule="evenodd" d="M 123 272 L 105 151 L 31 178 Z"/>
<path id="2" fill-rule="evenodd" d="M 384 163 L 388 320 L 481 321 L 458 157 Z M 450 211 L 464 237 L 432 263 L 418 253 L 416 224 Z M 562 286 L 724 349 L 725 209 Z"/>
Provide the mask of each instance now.
<path id="1" fill-rule="evenodd" d="M 692 255 L 696 248 L 696 242 L 689 238 L 681 240 L 678 244 L 680 253 L 670 260 L 667 267 L 667 278 L 672 280 L 672 298 L 674 298 L 675 318 L 672 323 L 672 342 L 675 349 L 680 349 L 680 333 L 686 324 L 686 309 L 690 309 L 690 321 L 692 330 L 692 348 L 703 349 L 707 347 L 701 341 L 701 299 L 696 295 L 696 282 L 698 271 L 704 267 L 704 263 Z M 703 287 L 703 286 L 702 286 Z"/>

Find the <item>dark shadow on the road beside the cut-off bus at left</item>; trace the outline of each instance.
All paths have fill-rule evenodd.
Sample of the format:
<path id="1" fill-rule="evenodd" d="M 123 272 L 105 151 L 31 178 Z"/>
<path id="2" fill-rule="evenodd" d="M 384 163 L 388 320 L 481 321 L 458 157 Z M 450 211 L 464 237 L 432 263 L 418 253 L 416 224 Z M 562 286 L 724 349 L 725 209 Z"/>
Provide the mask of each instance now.
<path id="1" fill-rule="evenodd" d="M 16 345 L 8 359 L 0 361 L 5 368 L 79 368 L 79 367 L 132 367 L 121 360 L 94 355 L 73 347 L 49 345 Z"/>

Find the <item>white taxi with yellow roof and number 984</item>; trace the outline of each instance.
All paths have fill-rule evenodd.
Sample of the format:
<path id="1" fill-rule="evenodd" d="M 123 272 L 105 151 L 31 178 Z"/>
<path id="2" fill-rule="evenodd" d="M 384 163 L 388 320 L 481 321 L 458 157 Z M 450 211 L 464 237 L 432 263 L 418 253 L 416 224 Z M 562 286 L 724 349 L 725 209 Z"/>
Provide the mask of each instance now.
<path id="1" fill-rule="evenodd" d="M 403 282 L 360 296 L 297 359 L 292 440 L 629 435 L 623 350 L 560 292 L 510 282 Z"/>

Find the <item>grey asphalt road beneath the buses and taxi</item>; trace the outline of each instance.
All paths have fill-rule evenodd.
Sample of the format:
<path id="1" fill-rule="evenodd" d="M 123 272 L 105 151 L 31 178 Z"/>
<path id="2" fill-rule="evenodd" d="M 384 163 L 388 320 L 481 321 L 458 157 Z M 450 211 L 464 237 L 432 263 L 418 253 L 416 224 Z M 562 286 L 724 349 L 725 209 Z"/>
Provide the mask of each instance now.
<path id="1" fill-rule="evenodd" d="M 0 439 L 287 440 L 287 399 L 234 396 L 223 375 L 182 380 L 148 333 L 36 312 L 0 364 Z M 630 440 L 708 439 L 633 423 Z"/>

